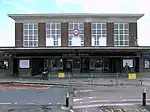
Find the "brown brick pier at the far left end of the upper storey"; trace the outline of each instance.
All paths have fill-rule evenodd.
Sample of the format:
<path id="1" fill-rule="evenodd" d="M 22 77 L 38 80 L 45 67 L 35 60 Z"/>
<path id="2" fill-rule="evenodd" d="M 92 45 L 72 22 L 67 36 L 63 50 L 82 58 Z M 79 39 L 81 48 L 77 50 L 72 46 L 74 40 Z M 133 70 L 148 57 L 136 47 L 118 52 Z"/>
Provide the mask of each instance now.
<path id="1" fill-rule="evenodd" d="M 23 47 L 23 23 L 15 23 L 15 47 Z"/>

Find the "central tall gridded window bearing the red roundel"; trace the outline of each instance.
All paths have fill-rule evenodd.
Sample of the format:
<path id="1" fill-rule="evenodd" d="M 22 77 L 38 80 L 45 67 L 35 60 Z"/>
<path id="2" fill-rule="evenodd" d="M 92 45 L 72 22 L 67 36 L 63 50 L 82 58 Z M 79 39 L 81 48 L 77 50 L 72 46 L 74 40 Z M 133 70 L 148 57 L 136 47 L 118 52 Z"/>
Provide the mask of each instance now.
<path id="1" fill-rule="evenodd" d="M 68 46 L 84 46 L 84 23 L 69 23 L 68 34 Z"/>

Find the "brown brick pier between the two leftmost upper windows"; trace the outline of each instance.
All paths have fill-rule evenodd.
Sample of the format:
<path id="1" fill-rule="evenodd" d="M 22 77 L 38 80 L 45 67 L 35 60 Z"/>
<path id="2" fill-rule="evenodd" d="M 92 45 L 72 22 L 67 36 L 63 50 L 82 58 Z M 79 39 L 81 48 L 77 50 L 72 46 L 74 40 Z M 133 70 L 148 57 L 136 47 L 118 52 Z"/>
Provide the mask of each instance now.
<path id="1" fill-rule="evenodd" d="M 46 23 L 38 23 L 38 46 L 46 46 Z"/>

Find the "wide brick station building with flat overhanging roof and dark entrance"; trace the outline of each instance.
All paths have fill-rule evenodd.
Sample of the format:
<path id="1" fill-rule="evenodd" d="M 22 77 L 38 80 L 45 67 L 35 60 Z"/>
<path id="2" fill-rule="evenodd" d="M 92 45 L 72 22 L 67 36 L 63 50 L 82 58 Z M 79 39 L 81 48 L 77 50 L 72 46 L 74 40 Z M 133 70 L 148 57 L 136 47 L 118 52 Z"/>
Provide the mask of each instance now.
<path id="1" fill-rule="evenodd" d="M 144 14 L 8 14 L 15 20 L 15 47 L 1 48 L 13 73 L 132 72 L 149 70 L 137 45 L 137 21 Z M 147 63 L 147 64 L 145 64 Z M 146 67 L 145 67 L 146 66 Z M 149 66 L 149 67 L 148 67 Z M 29 70 L 30 69 L 30 70 Z"/>

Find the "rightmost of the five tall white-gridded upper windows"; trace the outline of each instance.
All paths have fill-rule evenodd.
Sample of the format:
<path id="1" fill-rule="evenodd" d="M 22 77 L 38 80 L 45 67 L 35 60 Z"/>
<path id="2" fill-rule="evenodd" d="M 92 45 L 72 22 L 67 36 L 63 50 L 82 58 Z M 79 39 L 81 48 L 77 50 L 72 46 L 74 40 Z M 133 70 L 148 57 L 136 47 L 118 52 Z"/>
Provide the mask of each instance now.
<path id="1" fill-rule="evenodd" d="M 129 46 L 129 24 L 128 23 L 114 24 L 114 45 Z"/>

